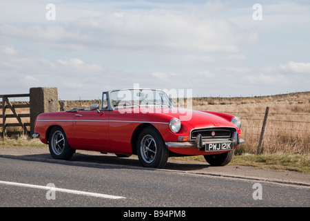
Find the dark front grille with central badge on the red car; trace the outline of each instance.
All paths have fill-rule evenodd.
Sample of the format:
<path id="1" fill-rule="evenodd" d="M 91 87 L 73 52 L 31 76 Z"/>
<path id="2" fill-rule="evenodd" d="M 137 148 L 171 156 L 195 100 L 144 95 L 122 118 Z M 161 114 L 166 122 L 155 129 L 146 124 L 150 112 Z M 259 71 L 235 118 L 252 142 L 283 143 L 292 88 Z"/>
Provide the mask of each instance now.
<path id="1" fill-rule="evenodd" d="M 229 139 L 231 135 L 236 131 L 236 128 L 201 128 L 193 130 L 191 133 L 191 139 L 196 139 L 198 133 L 202 136 L 203 140 L 206 139 Z"/>

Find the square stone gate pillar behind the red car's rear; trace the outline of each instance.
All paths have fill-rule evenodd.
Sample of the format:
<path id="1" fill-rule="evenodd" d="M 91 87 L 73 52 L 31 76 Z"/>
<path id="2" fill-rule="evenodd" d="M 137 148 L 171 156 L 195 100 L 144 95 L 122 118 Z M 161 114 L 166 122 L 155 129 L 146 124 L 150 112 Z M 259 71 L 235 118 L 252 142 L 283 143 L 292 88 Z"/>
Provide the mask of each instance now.
<path id="1" fill-rule="evenodd" d="M 30 134 L 40 113 L 59 111 L 57 88 L 30 88 Z"/>

